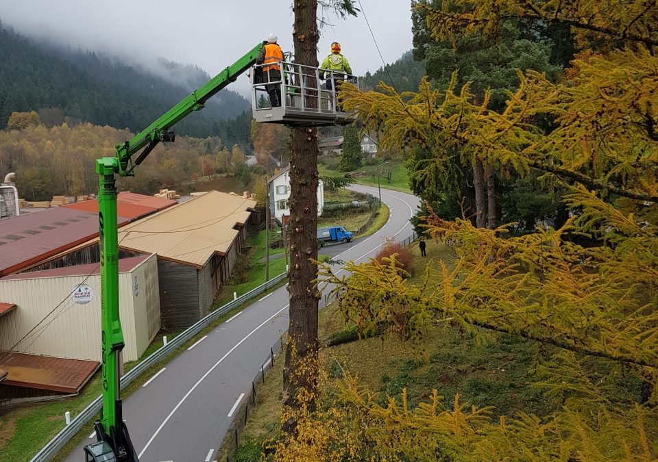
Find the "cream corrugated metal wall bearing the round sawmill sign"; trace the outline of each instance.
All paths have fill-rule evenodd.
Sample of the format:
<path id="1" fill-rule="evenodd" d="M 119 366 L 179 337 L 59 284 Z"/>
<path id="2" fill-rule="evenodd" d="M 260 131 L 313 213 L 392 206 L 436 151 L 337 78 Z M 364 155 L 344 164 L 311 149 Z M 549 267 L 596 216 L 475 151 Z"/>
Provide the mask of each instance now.
<path id="1" fill-rule="evenodd" d="M 153 256 L 147 261 L 155 261 L 155 258 Z M 155 272 L 154 264 L 145 266 L 145 263 L 136 270 L 143 268 L 144 272 Z M 153 277 L 149 275 L 149 278 Z M 81 276 L 0 280 L 0 300 L 11 300 L 17 305 L 12 313 L 0 318 L 0 350 L 9 350 L 23 335 L 41 323 L 14 350 L 34 355 L 100 361 L 100 279 L 95 274 L 84 281 L 94 291 L 93 299 L 86 305 L 79 305 L 71 299 L 71 292 L 84 280 Z M 124 361 L 138 359 L 145 348 L 142 338 L 150 335 L 146 326 L 136 326 L 132 281 L 132 272 L 119 274 L 119 313 L 125 338 Z M 143 309 L 152 312 L 157 306 L 158 300 L 149 300 Z"/>

